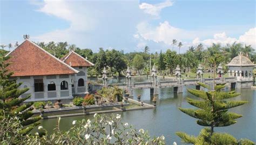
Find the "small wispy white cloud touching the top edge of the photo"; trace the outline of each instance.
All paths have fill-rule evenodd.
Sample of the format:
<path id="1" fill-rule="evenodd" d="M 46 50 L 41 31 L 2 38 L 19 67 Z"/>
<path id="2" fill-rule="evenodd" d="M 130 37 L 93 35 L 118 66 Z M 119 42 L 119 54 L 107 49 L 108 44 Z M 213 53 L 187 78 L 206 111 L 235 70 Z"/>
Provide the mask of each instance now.
<path id="1" fill-rule="evenodd" d="M 172 4 L 173 3 L 168 0 L 159 4 L 142 3 L 139 5 L 139 8 L 142 9 L 145 13 L 151 14 L 152 16 L 159 16 L 161 9 L 172 6 Z"/>

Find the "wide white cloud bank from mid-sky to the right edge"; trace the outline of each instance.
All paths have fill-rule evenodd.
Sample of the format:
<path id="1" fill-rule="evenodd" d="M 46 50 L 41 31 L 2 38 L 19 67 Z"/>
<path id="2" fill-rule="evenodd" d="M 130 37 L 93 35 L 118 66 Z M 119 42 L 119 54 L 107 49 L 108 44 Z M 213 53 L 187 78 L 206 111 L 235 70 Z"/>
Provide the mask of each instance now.
<path id="1" fill-rule="evenodd" d="M 134 35 L 134 38 L 139 40 L 141 43 L 143 40 L 154 41 L 154 42 L 164 42 L 166 45 L 171 45 L 172 40 L 176 39 L 183 42 L 183 52 L 187 49 L 188 46 L 198 45 L 202 43 L 205 46 L 211 46 L 215 44 L 232 44 L 233 42 L 241 42 L 242 44 L 251 45 L 253 48 L 256 48 L 255 41 L 255 31 L 256 28 L 251 28 L 245 34 L 241 35 L 239 38 L 228 37 L 225 32 L 218 33 L 218 30 L 211 30 L 207 28 L 205 30 L 184 30 L 181 28 L 174 27 L 169 24 L 168 21 L 164 23 L 159 23 L 158 26 L 151 26 L 146 21 L 139 23 L 137 25 L 137 33 Z M 211 36 L 213 35 L 213 38 Z M 135 37 L 136 36 L 136 37 Z M 211 38 L 203 39 L 200 38 Z"/>

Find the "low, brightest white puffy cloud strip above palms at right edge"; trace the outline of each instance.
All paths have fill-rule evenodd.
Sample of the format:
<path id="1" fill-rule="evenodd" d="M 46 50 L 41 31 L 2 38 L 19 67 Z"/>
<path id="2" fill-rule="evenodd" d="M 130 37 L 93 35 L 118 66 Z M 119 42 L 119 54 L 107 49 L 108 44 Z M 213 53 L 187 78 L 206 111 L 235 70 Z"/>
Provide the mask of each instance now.
<path id="1" fill-rule="evenodd" d="M 226 45 L 226 44 L 232 44 L 233 42 L 240 42 L 242 44 L 251 45 L 255 49 L 256 48 L 255 32 L 256 32 L 256 27 L 251 28 L 250 30 L 245 32 L 245 34 L 241 35 L 239 39 L 227 37 L 225 32 L 217 33 L 217 34 L 214 34 L 213 39 L 205 39 L 200 41 L 199 38 L 196 38 L 193 40 L 192 44 L 197 45 L 199 43 L 202 43 L 206 46 L 211 46 L 213 43 Z"/>

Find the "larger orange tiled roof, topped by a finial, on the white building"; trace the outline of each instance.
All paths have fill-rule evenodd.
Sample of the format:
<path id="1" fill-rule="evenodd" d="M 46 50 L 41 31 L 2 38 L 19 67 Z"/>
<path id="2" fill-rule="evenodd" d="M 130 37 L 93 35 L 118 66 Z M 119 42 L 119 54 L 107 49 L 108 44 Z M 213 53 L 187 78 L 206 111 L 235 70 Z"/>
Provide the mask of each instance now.
<path id="1" fill-rule="evenodd" d="M 14 72 L 12 76 L 78 73 L 77 70 L 63 63 L 28 39 L 7 55 L 10 56 L 10 59 L 7 60 L 7 62 L 10 63 L 7 69 Z"/>

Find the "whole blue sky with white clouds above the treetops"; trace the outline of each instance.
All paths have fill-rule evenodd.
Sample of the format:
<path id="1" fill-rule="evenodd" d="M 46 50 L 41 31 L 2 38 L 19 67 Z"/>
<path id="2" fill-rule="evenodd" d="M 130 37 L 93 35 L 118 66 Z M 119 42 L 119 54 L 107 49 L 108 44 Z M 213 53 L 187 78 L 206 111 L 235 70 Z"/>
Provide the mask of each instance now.
<path id="1" fill-rule="evenodd" d="M 150 52 L 240 42 L 256 48 L 255 0 L 0 0 L 0 44 L 63 42 L 97 52 Z M 9 49 L 9 48 L 6 48 Z M 11 48 L 14 49 L 14 48 Z M 174 50 L 178 50 L 174 46 Z"/>

